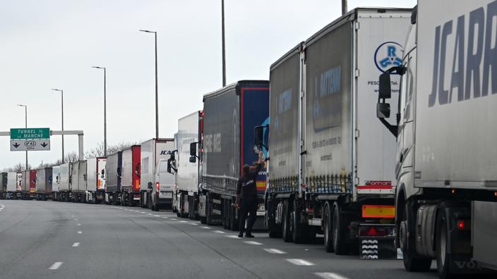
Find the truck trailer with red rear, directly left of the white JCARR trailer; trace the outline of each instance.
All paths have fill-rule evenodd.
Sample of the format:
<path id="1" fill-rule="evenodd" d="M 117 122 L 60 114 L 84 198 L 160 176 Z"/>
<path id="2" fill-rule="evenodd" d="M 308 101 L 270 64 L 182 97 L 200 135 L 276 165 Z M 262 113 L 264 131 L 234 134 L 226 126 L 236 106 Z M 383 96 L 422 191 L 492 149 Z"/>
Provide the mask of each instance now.
<path id="1" fill-rule="evenodd" d="M 121 204 L 138 206 L 140 204 L 140 145 L 123 150 L 121 171 Z"/>

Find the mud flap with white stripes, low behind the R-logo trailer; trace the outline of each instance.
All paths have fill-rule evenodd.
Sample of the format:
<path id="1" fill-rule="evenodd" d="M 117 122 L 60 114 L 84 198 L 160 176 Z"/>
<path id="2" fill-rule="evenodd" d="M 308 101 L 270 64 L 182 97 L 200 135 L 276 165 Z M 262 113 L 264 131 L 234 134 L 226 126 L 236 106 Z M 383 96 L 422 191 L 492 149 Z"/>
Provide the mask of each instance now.
<path id="1" fill-rule="evenodd" d="M 393 237 L 359 237 L 361 259 L 397 259 Z"/>

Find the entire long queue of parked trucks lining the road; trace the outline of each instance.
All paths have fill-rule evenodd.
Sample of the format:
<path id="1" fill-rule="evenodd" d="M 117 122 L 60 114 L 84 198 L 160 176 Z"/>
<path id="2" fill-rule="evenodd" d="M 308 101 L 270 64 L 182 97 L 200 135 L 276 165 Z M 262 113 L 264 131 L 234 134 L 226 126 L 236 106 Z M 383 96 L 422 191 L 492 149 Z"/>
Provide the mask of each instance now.
<path id="1" fill-rule="evenodd" d="M 269 81 L 205 94 L 174 139 L 2 173 L 1 197 L 172 209 L 237 230 L 236 181 L 262 150 L 257 216 L 270 237 L 322 234 L 327 252 L 363 259 L 398 248 L 408 271 L 436 259 L 440 278 L 489 272 L 496 21 L 489 0 L 356 8 L 275 61 Z"/>

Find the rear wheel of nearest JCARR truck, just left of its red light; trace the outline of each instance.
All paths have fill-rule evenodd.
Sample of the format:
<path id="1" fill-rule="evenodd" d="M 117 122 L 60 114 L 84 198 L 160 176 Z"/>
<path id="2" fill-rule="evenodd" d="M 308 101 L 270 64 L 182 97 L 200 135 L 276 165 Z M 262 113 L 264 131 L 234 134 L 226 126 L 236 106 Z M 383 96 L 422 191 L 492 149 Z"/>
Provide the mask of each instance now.
<path id="1" fill-rule="evenodd" d="M 448 233 L 445 211 L 439 209 L 436 218 L 436 267 L 438 278 L 450 278 L 450 254 L 447 253 Z"/>

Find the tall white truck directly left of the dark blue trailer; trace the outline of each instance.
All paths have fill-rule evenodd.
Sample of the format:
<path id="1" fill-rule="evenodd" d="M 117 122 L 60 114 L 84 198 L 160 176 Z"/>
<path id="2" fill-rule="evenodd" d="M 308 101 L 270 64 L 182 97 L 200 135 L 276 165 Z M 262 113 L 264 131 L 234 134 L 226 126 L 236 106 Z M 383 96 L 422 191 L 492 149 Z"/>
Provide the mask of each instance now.
<path id="1" fill-rule="evenodd" d="M 200 161 L 191 156 L 192 150 L 198 154 L 198 143 L 202 138 L 203 112 L 196 111 L 179 118 L 176 134 L 176 210 L 178 217 L 198 218 L 198 185 Z"/>

